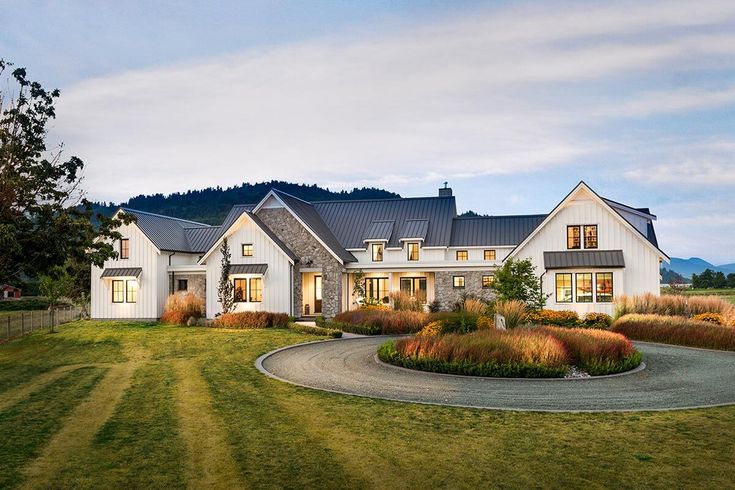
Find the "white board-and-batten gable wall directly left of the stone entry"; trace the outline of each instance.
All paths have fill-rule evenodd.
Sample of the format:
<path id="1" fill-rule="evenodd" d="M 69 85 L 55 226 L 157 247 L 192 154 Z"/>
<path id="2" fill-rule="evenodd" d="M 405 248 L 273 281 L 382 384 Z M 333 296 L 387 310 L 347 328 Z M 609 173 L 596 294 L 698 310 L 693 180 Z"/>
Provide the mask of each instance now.
<path id="1" fill-rule="evenodd" d="M 263 276 L 263 301 L 259 303 L 235 303 L 235 311 L 272 311 L 291 314 L 291 275 L 292 265 L 285 253 L 275 245 L 263 231 L 249 218 L 241 218 L 239 226 L 227 236 L 232 255 L 230 263 L 268 264 Z M 242 256 L 242 244 L 253 245 L 253 256 Z M 220 280 L 222 253 L 221 243 L 207 257 L 207 317 L 214 318 L 222 311 L 217 301 L 217 287 Z M 260 277 L 252 274 L 234 274 L 235 278 Z"/>

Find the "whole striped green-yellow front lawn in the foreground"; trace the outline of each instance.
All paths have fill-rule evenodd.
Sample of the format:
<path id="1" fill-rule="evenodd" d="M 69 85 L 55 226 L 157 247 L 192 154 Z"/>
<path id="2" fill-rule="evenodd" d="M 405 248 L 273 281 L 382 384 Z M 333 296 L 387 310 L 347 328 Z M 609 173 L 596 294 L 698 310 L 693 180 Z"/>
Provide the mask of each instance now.
<path id="1" fill-rule="evenodd" d="M 322 393 L 260 374 L 314 337 L 76 322 L 0 345 L 0 488 L 718 487 L 735 407 L 543 414 Z"/>

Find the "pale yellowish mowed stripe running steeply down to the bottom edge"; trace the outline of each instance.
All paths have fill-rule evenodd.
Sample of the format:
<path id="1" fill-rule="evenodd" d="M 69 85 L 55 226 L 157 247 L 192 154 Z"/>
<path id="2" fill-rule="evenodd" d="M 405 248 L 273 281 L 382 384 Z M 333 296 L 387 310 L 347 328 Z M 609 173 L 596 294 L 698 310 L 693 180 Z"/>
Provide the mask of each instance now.
<path id="1" fill-rule="evenodd" d="M 174 361 L 178 387 L 179 425 L 186 443 L 186 480 L 189 488 L 235 488 L 238 469 L 227 443 L 227 431 L 214 414 L 209 388 L 201 377 L 200 363 Z"/>

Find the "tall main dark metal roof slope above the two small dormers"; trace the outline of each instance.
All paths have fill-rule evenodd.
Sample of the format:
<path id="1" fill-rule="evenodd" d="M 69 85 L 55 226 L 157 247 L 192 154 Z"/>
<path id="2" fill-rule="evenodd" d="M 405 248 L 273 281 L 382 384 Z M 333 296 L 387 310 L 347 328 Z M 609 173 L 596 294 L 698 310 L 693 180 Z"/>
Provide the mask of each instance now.
<path id="1" fill-rule="evenodd" d="M 374 221 L 395 221 L 403 230 L 407 220 L 426 220 L 424 246 L 447 246 L 452 218 L 457 215 L 453 197 L 417 197 L 360 201 L 321 201 L 313 208 L 344 248 L 365 248 L 363 237 Z M 400 233 L 393 233 L 389 247 L 399 247 Z"/>

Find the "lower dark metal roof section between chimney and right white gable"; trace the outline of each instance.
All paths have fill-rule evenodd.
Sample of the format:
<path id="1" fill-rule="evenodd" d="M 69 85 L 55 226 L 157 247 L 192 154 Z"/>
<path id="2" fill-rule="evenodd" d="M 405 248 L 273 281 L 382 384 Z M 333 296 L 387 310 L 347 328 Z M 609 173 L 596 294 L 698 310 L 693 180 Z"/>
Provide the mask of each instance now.
<path id="1" fill-rule="evenodd" d="M 510 246 L 521 243 L 546 218 L 545 214 L 455 218 L 452 247 Z"/>

